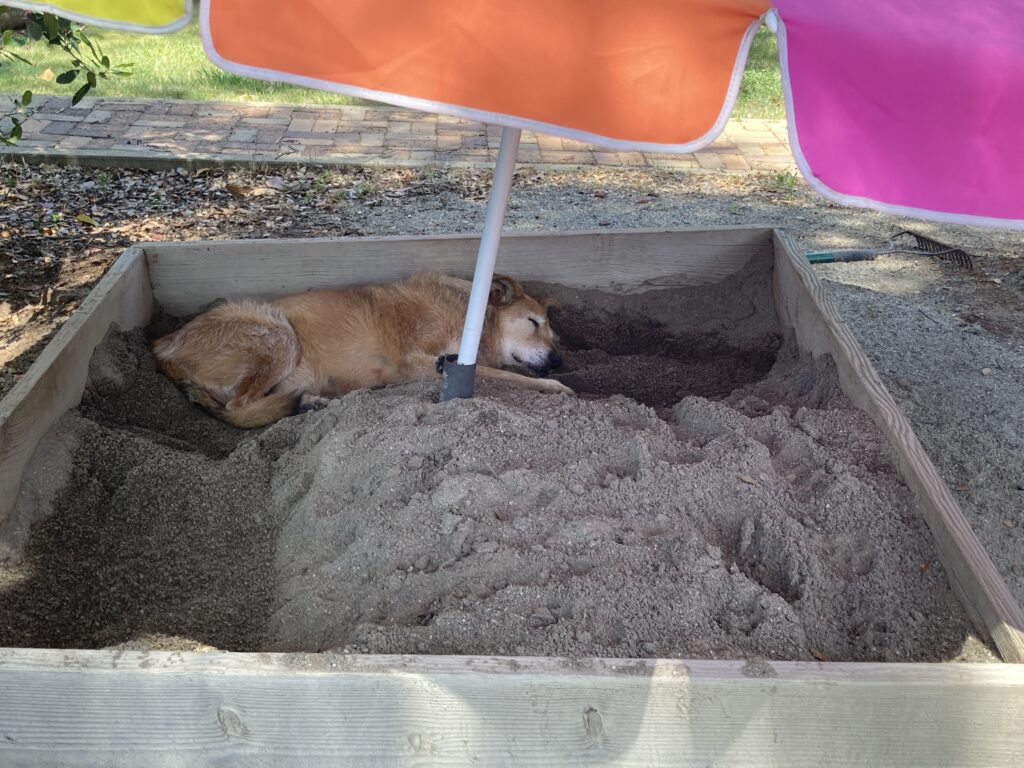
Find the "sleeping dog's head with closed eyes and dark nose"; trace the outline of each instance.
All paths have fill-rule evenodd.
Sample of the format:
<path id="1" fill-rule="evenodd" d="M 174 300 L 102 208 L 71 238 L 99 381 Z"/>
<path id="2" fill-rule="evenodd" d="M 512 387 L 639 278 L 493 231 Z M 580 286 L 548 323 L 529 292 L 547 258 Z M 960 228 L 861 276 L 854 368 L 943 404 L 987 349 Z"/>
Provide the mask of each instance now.
<path id="1" fill-rule="evenodd" d="M 502 274 L 490 283 L 488 301 L 498 321 L 503 366 L 524 366 L 540 376 L 561 368 L 557 337 L 548 322 L 548 311 L 558 308 L 557 301 L 538 301 Z"/>

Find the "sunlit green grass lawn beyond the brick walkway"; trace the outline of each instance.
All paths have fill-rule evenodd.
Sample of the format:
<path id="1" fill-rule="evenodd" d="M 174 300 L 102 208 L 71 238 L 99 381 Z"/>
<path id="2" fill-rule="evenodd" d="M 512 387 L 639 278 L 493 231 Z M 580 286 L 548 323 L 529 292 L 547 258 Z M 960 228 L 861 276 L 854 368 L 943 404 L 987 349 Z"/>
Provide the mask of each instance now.
<path id="1" fill-rule="evenodd" d="M 134 65 L 131 77 L 101 82 L 91 95 L 307 104 L 358 102 L 358 99 L 336 93 L 252 80 L 217 69 L 203 52 L 195 19 L 186 30 L 174 35 L 143 36 L 99 29 L 91 29 L 89 34 L 113 61 Z M 68 61 L 59 49 L 32 43 L 19 48 L 18 52 L 33 63 L 0 66 L 0 93 L 20 93 L 27 89 L 65 95 L 75 92 L 77 83 L 61 86 L 40 77 L 46 70 L 56 76 L 68 69 Z M 751 48 L 733 117 L 783 117 L 775 37 L 765 28 L 758 32 Z"/>

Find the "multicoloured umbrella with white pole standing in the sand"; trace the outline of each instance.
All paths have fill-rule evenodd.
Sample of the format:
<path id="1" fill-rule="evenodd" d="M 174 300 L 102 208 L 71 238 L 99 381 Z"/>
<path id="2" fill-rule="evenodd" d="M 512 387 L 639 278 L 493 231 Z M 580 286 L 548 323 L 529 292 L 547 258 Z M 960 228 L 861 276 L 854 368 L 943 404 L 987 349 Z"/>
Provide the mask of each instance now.
<path id="1" fill-rule="evenodd" d="M 8 2 L 161 32 L 180 0 Z M 240 75 L 503 127 L 462 343 L 472 394 L 520 131 L 689 153 L 728 120 L 758 27 L 778 34 L 791 142 L 844 205 L 1024 228 L 1024 3 L 963 0 L 203 0 L 207 55 Z"/>

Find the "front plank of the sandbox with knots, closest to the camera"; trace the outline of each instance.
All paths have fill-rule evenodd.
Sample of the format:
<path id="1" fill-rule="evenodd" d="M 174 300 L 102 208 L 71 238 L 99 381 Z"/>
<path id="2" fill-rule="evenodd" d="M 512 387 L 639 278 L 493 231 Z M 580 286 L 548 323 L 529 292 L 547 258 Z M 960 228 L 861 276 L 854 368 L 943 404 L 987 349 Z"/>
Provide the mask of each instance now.
<path id="1" fill-rule="evenodd" d="M 0 765 L 1017 766 L 1024 668 L 0 650 Z"/>

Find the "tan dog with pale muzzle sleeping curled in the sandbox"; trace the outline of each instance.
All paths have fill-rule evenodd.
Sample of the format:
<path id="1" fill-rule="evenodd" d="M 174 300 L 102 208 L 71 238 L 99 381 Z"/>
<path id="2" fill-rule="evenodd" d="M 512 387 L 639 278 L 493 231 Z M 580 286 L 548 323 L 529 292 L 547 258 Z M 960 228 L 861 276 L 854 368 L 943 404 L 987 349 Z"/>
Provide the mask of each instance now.
<path id="1" fill-rule="evenodd" d="M 220 304 L 154 342 L 160 370 L 236 427 L 261 427 L 354 389 L 436 377 L 459 349 L 471 283 L 438 272 L 400 283 Z M 490 285 L 476 375 L 571 394 L 539 377 L 562 365 L 548 311 L 505 275 Z"/>

